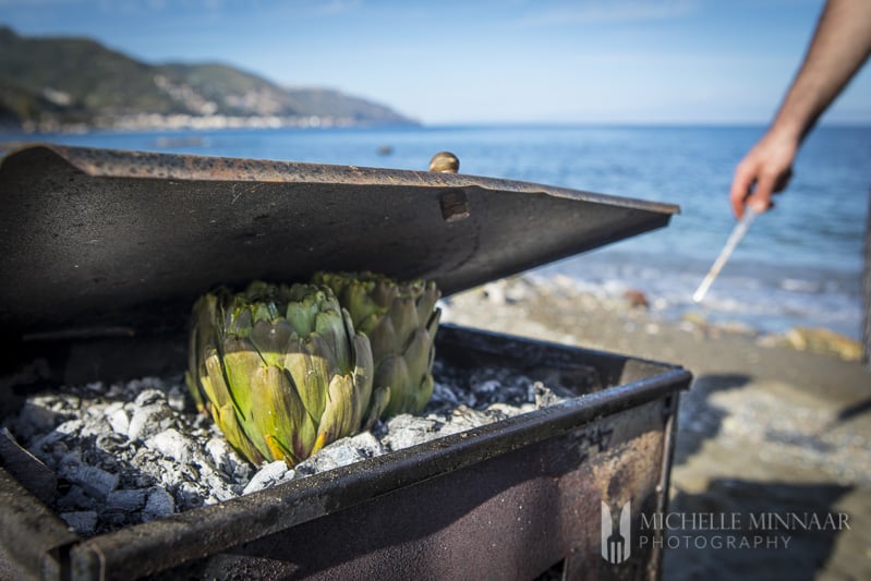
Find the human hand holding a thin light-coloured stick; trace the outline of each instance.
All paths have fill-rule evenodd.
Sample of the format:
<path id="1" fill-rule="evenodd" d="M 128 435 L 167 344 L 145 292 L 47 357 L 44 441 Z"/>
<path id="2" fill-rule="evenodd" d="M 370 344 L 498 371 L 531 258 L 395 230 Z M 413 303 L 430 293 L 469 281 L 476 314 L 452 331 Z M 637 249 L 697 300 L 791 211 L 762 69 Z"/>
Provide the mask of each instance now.
<path id="1" fill-rule="evenodd" d="M 798 145 L 797 138 L 771 130 L 748 152 L 735 168 L 729 190 L 737 218 L 745 207 L 763 213 L 773 206 L 772 195 L 783 191 L 793 175 Z"/>

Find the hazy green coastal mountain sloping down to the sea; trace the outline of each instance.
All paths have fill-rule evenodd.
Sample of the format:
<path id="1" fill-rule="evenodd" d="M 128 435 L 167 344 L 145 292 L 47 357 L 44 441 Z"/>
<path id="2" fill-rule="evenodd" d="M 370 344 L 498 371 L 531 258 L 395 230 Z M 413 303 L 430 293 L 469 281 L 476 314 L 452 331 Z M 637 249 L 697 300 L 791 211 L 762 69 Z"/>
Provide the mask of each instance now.
<path id="1" fill-rule="evenodd" d="M 390 108 L 326 88 L 286 88 L 220 63 L 149 64 L 87 38 L 0 26 L 0 126 L 407 124 Z"/>

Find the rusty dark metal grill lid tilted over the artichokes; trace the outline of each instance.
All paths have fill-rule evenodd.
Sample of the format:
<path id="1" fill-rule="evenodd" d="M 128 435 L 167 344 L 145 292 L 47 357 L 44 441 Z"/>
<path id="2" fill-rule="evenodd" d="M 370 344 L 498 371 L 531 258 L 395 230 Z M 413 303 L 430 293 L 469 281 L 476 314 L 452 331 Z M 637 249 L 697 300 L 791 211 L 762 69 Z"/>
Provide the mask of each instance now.
<path id="1" fill-rule="evenodd" d="M 464 174 L 35 145 L 0 162 L 0 327 L 172 330 L 217 285 L 318 269 L 424 277 L 450 294 L 677 211 Z"/>

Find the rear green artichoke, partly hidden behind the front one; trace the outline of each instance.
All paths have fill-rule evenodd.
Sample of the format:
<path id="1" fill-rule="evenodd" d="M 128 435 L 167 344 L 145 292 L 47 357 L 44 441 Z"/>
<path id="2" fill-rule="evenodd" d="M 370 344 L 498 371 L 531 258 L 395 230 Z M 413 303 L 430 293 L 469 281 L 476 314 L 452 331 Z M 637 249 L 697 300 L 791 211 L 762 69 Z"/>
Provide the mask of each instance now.
<path id="1" fill-rule="evenodd" d="M 374 388 L 389 389 L 383 417 L 420 413 L 433 395 L 435 335 L 440 292 L 434 282 L 399 282 L 373 273 L 317 273 L 313 282 L 332 289 L 354 328 L 368 336 Z"/>

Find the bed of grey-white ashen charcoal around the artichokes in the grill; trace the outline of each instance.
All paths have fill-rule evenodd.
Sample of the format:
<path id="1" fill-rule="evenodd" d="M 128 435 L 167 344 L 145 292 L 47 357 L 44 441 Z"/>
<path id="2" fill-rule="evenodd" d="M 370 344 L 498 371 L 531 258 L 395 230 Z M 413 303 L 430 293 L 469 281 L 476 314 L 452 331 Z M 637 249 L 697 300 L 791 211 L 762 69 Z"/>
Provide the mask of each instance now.
<path id="1" fill-rule="evenodd" d="M 378 423 L 288 469 L 255 470 L 197 414 L 180 376 L 63 386 L 31 396 L 3 425 L 57 476 L 51 505 L 84 536 L 159 519 L 348 465 L 560 401 L 571 394 L 505 368 L 436 362 L 424 414 Z M 559 394 L 559 396 L 557 395 Z M 562 397 L 560 397 L 562 396 Z M 26 485 L 26 483 L 25 483 Z"/>

